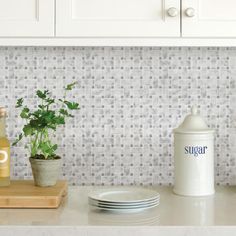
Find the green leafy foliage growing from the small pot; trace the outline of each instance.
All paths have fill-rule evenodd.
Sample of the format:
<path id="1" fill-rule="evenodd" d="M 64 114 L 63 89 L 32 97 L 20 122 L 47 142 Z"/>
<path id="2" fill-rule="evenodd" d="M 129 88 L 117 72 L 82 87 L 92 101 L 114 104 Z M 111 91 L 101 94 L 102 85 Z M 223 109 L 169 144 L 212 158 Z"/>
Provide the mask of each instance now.
<path id="1" fill-rule="evenodd" d="M 59 126 L 64 125 L 67 118 L 73 117 L 71 114 L 73 110 L 80 109 L 77 102 L 66 99 L 67 92 L 71 91 L 75 85 L 76 82 L 68 84 L 64 88 L 64 96 L 60 99 L 53 98 L 48 90 L 37 90 L 36 96 L 39 99 L 39 105 L 36 110 L 31 110 L 24 105 L 23 98 L 18 99 L 16 108 L 21 108 L 20 117 L 26 121 L 26 124 L 13 145 L 25 137 L 29 141 L 27 148 L 31 158 L 60 158 L 56 155 L 58 145 L 52 143 L 50 135 Z"/>

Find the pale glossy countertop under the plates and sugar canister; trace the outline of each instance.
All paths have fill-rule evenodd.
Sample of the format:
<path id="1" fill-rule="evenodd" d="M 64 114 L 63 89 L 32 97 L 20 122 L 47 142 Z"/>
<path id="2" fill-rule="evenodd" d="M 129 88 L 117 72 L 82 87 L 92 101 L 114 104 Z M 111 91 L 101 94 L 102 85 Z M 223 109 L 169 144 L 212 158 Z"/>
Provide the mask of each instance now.
<path id="1" fill-rule="evenodd" d="M 217 187 L 208 197 L 182 197 L 170 187 L 153 187 L 160 205 L 130 214 L 90 209 L 88 192 L 96 188 L 70 187 L 58 209 L 0 209 L 0 235 L 236 235 L 236 187 Z"/>

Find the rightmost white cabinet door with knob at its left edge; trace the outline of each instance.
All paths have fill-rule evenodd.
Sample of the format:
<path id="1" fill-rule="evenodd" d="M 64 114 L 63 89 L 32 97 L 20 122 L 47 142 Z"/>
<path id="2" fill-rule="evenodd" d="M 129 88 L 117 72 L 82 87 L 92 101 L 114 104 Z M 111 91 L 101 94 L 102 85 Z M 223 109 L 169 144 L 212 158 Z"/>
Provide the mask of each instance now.
<path id="1" fill-rule="evenodd" d="M 182 0 L 183 37 L 236 37 L 235 0 Z"/>

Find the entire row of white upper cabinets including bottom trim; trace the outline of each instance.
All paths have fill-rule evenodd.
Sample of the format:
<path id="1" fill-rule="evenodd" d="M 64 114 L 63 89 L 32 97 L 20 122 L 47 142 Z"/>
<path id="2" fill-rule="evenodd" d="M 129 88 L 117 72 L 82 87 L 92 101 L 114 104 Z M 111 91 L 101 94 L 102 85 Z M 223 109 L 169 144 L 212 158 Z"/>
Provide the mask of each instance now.
<path id="1" fill-rule="evenodd" d="M 0 0 L 0 46 L 236 46 L 236 0 Z"/>

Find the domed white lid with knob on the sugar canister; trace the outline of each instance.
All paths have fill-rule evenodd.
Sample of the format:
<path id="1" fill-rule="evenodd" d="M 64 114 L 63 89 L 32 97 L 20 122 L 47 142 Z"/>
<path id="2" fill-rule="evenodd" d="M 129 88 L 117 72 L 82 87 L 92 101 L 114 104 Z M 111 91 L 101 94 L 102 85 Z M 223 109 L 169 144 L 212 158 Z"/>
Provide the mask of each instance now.
<path id="1" fill-rule="evenodd" d="M 176 129 L 174 133 L 213 133 L 213 129 L 209 129 L 203 118 L 199 115 L 196 106 L 191 109 L 191 114 L 187 115 L 183 123 Z"/>

